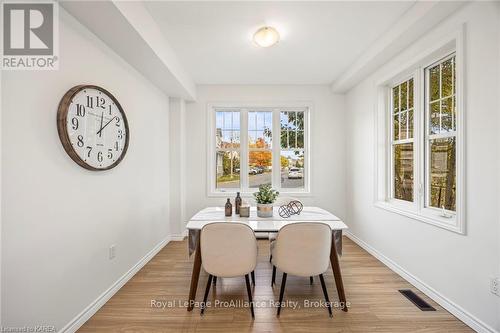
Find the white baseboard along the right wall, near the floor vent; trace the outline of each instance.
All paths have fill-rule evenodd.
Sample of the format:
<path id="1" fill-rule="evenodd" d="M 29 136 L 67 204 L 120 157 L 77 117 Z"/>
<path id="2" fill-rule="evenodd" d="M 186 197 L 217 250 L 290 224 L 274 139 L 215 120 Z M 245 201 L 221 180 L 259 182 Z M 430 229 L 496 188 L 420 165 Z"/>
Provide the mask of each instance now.
<path id="1" fill-rule="evenodd" d="M 419 280 L 417 277 L 413 276 L 410 272 L 399 266 L 391 259 L 387 258 L 385 255 L 383 255 L 378 250 L 365 243 L 357 236 L 353 235 L 351 232 L 347 231 L 345 232 L 345 235 L 354 243 L 358 244 L 360 247 L 366 250 L 366 252 L 370 253 L 372 256 L 380 260 L 384 265 L 386 265 L 396 274 L 398 274 L 403 279 L 411 283 L 413 286 L 415 286 L 415 288 L 419 289 L 421 292 L 423 292 L 425 295 L 427 295 L 429 298 L 438 303 L 440 306 L 442 306 L 444 309 L 446 309 L 448 312 L 450 312 L 452 315 L 457 317 L 459 320 L 464 322 L 467 326 L 469 326 L 476 332 L 499 333 L 499 331 L 495 330 L 493 327 L 482 322 L 480 319 L 476 318 L 475 316 L 464 310 L 458 304 L 452 302 L 445 296 L 441 295 L 435 289 L 428 286 L 426 283 Z"/>

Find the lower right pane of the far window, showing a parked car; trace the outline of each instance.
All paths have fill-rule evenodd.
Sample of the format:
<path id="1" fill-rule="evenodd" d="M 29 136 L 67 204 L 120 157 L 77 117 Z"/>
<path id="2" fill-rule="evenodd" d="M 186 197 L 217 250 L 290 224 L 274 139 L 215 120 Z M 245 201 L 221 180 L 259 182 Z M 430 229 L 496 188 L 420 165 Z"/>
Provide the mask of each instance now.
<path id="1" fill-rule="evenodd" d="M 282 151 L 281 162 L 281 187 L 304 187 L 304 151 Z"/>

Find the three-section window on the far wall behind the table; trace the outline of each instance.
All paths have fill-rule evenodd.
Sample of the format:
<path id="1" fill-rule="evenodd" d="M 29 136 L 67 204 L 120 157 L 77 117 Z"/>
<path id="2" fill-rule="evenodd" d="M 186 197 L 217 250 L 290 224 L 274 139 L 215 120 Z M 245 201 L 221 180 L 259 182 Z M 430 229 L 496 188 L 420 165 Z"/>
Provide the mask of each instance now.
<path id="1" fill-rule="evenodd" d="M 309 107 L 209 106 L 209 194 L 255 192 L 271 184 L 308 193 Z M 213 158 L 212 156 L 215 156 Z"/>

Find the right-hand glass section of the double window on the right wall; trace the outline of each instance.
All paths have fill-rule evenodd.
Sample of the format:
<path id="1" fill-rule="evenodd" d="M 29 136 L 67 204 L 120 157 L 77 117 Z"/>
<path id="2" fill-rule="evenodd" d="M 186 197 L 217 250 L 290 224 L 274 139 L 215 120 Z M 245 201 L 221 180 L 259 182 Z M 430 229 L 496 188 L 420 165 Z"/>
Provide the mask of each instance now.
<path id="1" fill-rule="evenodd" d="M 456 88 L 455 56 L 425 69 L 426 205 L 455 211 Z"/>

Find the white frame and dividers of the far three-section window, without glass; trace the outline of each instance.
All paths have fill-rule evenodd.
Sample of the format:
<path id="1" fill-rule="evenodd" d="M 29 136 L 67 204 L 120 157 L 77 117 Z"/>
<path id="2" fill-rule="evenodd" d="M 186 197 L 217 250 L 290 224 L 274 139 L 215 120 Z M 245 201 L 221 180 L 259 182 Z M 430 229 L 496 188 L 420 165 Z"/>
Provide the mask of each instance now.
<path id="1" fill-rule="evenodd" d="M 272 165 L 280 165 L 280 151 L 281 145 L 275 144 L 275 133 L 279 133 L 280 117 L 276 117 L 275 113 L 281 111 L 304 111 L 304 188 L 302 189 L 287 189 L 281 188 L 281 177 L 278 172 L 271 174 L 273 187 L 282 194 L 293 195 L 297 197 L 311 196 L 311 144 L 310 144 L 310 118 L 313 109 L 311 102 L 241 102 L 241 103 L 228 103 L 228 102 L 210 102 L 207 104 L 207 196 L 208 197 L 227 197 L 228 195 L 236 195 L 240 192 L 242 196 L 251 196 L 257 191 L 256 188 L 250 188 L 248 184 L 248 177 L 240 177 L 240 188 L 217 189 L 215 174 L 215 135 L 212 135 L 215 128 L 216 111 L 221 109 L 238 109 L 240 114 L 240 175 L 248 174 L 248 111 L 259 109 L 260 111 L 273 112 L 273 145 L 272 145 Z M 279 142 L 279 141 L 278 141 Z M 279 184 L 279 186 L 276 186 Z"/>

